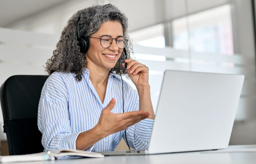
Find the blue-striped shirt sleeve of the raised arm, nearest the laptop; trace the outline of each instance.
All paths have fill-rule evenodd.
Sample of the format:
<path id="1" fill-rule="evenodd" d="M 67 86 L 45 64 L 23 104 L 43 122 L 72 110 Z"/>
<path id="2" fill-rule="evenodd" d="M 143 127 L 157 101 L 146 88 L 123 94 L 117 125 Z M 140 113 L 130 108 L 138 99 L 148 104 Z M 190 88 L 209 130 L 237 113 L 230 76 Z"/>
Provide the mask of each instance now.
<path id="1" fill-rule="evenodd" d="M 127 106 L 127 111 L 138 111 L 139 110 L 139 100 L 137 91 L 131 90 L 129 95 Z M 133 102 L 133 103 L 132 103 Z M 143 119 L 142 121 L 128 127 L 126 129 L 126 137 L 130 147 L 134 149 L 147 149 L 151 137 L 152 127 L 154 120 L 153 119 Z M 123 138 L 126 143 L 125 133 Z M 127 143 L 126 143 L 127 144 Z"/>

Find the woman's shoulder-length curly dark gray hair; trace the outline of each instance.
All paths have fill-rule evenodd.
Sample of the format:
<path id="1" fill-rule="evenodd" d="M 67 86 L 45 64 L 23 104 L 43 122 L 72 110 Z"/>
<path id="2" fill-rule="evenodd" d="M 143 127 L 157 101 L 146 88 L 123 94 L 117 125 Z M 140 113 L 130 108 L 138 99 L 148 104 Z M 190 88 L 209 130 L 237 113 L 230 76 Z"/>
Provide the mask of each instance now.
<path id="1" fill-rule="evenodd" d="M 77 40 L 77 23 L 79 20 L 79 35 L 89 37 L 97 32 L 105 21 L 118 21 L 123 27 L 123 36 L 128 38 L 126 47 L 127 58 L 131 58 L 133 53 L 132 39 L 128 33 L 127 17 L 112 4 L 92 5 L 75 13 L 69 20 L 68 25 L 63 29 L 60 40 L 53 51 L 53 55 L 46 62 L 46 71 L 48 74 L 53 72 L 72 72 L 76 74 L 76 80 L 82 80 L 83 69 L 87 65 L 86 53 L 80 52 L 79 41 Z M 120 57 L 121 61 L 125 60 L 124 52 Z M 119 62 L 119 61 L 118 61 Z M 110 72 L 116 75 L 125 75 L 128 78 L 126 69 L 121 66 L 119 71 L 119 63 L 110 69 Z"/>

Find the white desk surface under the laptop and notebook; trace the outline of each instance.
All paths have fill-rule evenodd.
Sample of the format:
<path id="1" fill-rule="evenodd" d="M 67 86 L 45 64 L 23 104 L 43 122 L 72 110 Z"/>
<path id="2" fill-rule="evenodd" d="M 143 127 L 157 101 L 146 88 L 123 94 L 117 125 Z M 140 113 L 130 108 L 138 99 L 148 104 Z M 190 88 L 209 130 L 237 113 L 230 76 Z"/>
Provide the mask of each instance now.
<path id="1" fill-rule="evenodd" d="M 58 159 L 55 161 L 18 162 L 15 164 L 255 164 L 256 145 L 236 145 L 214 151 L 169 153 L 158 155 L 106 156 L 104 158 Z M 12 163 L 14 164 L 14 163 Z"/>

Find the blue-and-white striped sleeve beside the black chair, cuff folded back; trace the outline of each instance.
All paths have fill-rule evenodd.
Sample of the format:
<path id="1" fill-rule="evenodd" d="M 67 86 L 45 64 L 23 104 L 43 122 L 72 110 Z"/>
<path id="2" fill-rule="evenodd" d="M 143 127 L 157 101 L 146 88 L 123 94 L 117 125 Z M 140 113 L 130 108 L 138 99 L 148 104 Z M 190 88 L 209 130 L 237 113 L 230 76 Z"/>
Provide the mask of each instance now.
<path id="1" fill-rule="evenodd" d="M 38 105 L 38 129 L 42 133 L 45 151 L 76 149 L 81 132 L 72 133 L 68 112 L 68 92 L 61 76 L 47 79 Z M 94 145 L 87 149 L 91 151 Z"/>

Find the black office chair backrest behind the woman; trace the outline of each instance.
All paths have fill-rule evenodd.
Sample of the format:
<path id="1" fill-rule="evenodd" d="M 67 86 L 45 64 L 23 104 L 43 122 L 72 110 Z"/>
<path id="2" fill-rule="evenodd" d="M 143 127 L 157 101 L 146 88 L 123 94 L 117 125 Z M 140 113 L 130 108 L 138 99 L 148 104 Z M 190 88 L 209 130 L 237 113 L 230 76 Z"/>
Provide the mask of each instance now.
<path id="1" fill-rule="evenodd" d="M 0 88 L 0 100 L 9 155 L 44 150 L 37 128 L 37 110 L 42 87 L 48 76 L 15 75 Z"/>

